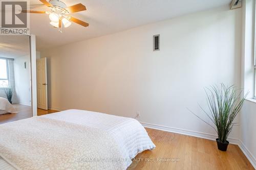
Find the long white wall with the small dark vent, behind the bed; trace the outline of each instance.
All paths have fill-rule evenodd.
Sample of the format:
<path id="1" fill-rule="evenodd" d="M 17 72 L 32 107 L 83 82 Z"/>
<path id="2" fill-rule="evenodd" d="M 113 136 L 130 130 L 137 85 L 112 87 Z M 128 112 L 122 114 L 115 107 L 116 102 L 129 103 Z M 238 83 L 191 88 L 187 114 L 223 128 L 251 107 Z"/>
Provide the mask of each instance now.
<path id="1" fill-rule="evenodd" d="M 102 28 L 103 29 L 103 28 Z M 153 52 L 153 35 L 160 51 Z M 201 134 L 204 87 L 240 87 L 241 9 L 228 6 L 42 51 L 49 106 L 135 117 Z M 232 138 L 238 138 L 234 128 Z M 214 138 L 214 137 L 212 137 Z"/>

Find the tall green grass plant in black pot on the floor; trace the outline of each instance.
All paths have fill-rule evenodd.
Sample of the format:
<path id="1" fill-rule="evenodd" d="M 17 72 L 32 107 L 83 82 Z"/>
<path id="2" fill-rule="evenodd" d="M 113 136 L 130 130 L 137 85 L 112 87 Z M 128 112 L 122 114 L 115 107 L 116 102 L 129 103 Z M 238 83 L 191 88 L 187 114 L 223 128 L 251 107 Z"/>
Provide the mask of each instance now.
<path id="1" fill-rule="evenodd" d="M 206 88 L 205 92 L 209 112 L 205 111 L 201 106 L 200 107 L 211 122 L 214 123 L 214 126 L 200 118 L 195 113 L 190 112 L 215 129 L 218 134 L 218 138 L 216 139 L 218 149 L 221 151 L 227 151 L 229 143 L 227 141 L 227 137 L 233 128 L 233 120 L 240 113 L 248 93 L 243 96 L 242 90 L 237 89 L 233 85 L 225 86 L 224 84 L 221 84 L 220 87 L 211 86 L 210 88 Z"/>

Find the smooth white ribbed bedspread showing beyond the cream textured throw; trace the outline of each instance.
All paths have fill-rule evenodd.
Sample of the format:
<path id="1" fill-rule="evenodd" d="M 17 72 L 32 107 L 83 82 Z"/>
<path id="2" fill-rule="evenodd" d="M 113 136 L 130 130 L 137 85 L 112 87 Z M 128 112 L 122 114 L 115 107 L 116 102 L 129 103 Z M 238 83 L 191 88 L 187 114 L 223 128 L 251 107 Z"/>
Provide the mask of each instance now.
<path id="1" fill-rule="evenodd" d="M 143 152 L 144 150 L 152 150 L 155 148 L 155 144 L 151 141 L 150 137 L 148 137 L 145 129 L 137 120 L 133 118 L 126 118 L 83 110 L 67 110 L 58 113 L 43 115 L 40 117 L 61 120 L 60 122 L 63 121 L 67 122 L 67 124 L 71 123 L 72 125 L 98 129 L 99 132 L 107 133 L 109 137 L 113 139 L 113 141 L 111 141 L 110 139 L 108 143 L 112 142 L 112 148 L 115 146 L 118 150 L 118 153 L 121 154 L 121 156 L 118 156 L 116 152 L 116 157 L 121 157 L 126 160 L 124 161 L 124 166 L 121 165 L 118 167 L 118 169 L 125 169 L 126 167 L 128 167 L 132 163 L 131 158 L 134 158 L 137 153 Z M 52 131 L 54 131 L 54 129 Z M 98 152 L 100 153 L 101 151 Z M 94 169 L 98 168 L 96 167 Z"/>

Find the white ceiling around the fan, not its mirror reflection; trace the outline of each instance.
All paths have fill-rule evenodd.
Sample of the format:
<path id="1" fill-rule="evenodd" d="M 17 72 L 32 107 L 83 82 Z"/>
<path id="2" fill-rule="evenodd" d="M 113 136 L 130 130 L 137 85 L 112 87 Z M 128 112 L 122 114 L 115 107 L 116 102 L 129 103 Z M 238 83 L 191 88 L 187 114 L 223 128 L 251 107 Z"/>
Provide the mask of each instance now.
<path id="1" fill-rule="evenodd" d="M 30 14 L 30 30 L 36 35 L 37 50 L 85 40 L 146 25 L 176 16 L 227 5 L 231 0 L 63 0 L 67 6 L 82 3 L 87 11 L 72 14 L 90 24 L 84 28 L 72 23 L 59 33 L 47 14 Z M 30 5 L 41 4 L 39 0 Z M 33 10 L 46 10 L 41 6 Z"/>

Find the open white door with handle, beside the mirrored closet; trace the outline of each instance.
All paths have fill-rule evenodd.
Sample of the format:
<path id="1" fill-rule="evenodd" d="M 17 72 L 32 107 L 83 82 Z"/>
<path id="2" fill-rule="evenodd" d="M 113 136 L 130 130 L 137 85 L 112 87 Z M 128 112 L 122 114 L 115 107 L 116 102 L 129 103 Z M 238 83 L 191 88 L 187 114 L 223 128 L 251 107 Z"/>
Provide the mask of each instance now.
<path id="1" fill-rule="evenodd" d="M 46 58 L 36 60 L 37 107 L 48 110 Z"/>

